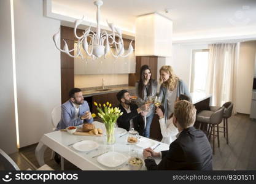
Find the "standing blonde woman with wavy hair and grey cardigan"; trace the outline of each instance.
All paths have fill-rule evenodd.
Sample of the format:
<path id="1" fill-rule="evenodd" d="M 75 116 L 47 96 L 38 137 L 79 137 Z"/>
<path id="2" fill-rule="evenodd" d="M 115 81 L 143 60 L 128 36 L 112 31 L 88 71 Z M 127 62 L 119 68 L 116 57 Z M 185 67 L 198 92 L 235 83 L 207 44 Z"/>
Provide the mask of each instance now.
<path id="1" fill-rule="evenodd" d="M 162 66 L 160 69 L 160 91 L 161 105 L 165 109 L 165 121 L 174 112 L 174 103 L 180 94 L 185 94 L 191 99 L 187 85 L 177 77 L 171 66 Z"/>

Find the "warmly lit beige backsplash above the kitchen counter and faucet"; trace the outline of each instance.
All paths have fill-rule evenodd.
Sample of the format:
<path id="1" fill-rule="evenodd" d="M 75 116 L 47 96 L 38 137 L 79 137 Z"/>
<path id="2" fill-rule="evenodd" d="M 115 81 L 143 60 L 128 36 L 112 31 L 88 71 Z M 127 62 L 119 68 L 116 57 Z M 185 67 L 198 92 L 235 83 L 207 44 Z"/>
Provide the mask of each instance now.
<path id="1" fill-rule="evenodd" d="M 75 75 L 76 88 L 104 88 L 107 86 L 128 85 L 128 74 Z"/>

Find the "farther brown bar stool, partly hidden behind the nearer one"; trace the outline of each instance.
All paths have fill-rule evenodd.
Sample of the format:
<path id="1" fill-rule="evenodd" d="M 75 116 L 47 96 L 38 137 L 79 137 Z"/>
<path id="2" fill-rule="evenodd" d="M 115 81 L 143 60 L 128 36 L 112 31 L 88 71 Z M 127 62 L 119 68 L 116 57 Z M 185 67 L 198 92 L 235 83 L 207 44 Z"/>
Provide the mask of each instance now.
<path id="1" fill-rule="evenodd" d="M 232 102 L 225 102 L 225 104 L 222 105 L 222 107 L 225 107 L 225 109 L 223 113 L 223 126 L 220 126 L 220 128 L 223 128 L 224 137 L 226 137 L 227 135 L 227 144 L 228 144 L 228 118 L 230 118 L 232 115 L 233 106 L 234 104 Z M 210 107 L 211 111 L 213 112 L 215 112 L 219 108 L 220 107 L 217 107 L 217 106 Z"/>

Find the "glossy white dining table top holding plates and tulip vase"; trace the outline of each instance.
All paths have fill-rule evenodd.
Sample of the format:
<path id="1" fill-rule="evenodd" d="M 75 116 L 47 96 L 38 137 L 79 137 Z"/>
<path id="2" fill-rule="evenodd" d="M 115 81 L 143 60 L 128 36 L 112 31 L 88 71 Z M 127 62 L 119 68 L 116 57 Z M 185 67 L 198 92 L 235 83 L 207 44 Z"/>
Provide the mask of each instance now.
<path id="1" fill-rule="evenodd" d="M 100 123 L 98 121 L 94 121 L 93 125 L 95 125 L 96 128 L 103 128 L 104 124 Z M 106 136 L 102 137 L 96 137 L 96 136 L 76 136 L 68 134 L 68 132 L 63 131 L 55 131 L 50 132 L 48 134 L 44 134 L 44 136 L 41 139 L 41 142 L 47 147 L 51 148 L 52 150 L 56 151 L 56 153 L 59 153 L 64 158 L 68 159 L 72 164 L 79 167 L 82 170 L 129 170 L 129 166 L 122 164 L 122 166 L 118 166 L 115 168 L 112 167 L 106 167 L 102 164 L 98 163 L 97 157 L 92 158 L 93 156 L 99 155 L 101 153 L 104 153 L 106 151 L 116 151 L 119 153 L 122 153 L 123 155 L 129 156 L 129 151 L 131 149 L 131 145 L 126 144 L 127 135 L 122 137 L 116 137 L 116 142 L 114 145 L 106 145 L 104 142 L 106 142 Z M 147 139 L 145 137 L 142 137 L 141 139 Z M 92 150 L 89 152 L 80 152 L 75 150 L 72 145 L 73 143 L 79 142 L 80 140 L 93 140 L 99 144 L 98 150 Z M 152 139 L 150 139 L 152 140 Z M 152 147 L 157 146 L 160 142 L 152 140 L 155 142 L 155 145 Z M 70 145 L 70 146 L 68 146 Z M 134 150 L 138 150 L 138 157 L 143 159 L 142 151 L 143 148 L 137 147 L 136 145 L 133 146 Z M 161 150 L 169 150 L 168 144 L 159 145 L 155 151 L 161 151 Z M 160 159 L 155 159 L 157 163 L 160 162 Z M 145 165 L 142 167 L 142 170 L 146 170 Z"/>

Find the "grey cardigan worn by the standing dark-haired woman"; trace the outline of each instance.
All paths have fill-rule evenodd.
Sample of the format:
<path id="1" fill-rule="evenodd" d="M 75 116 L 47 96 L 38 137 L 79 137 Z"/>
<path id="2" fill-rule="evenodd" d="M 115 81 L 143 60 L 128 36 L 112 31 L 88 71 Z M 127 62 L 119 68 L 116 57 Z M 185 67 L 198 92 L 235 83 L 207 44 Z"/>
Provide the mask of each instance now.
<path id="1" fill-rule="evenodd" d="M 150 87 L 152 88 L 152 96 L 155 96 L 157 94 L 157 80 L 152 79 L 152 86 Z M 147 96 L 144 96 L 144 99 L 139 97 L 138 82 L 136 82 L 135 88 L 136 88 L 136 96 L 138 96 L 138 98 L 136 99 L 136 105 L 138 105 L 138 107 L 141 107 L 141 105 L 144 105 L 145 102 L 147 101 Z M 147 94 L 147 90 L 145 88 L 144 88 L 144 94 Z M 154 111 L 155 111 L 155 106 L 151 104 L 149 107 L 149 112 L 147 113 L 147 117 L 149 117 L 149 115 L 151 115 Z"/>

